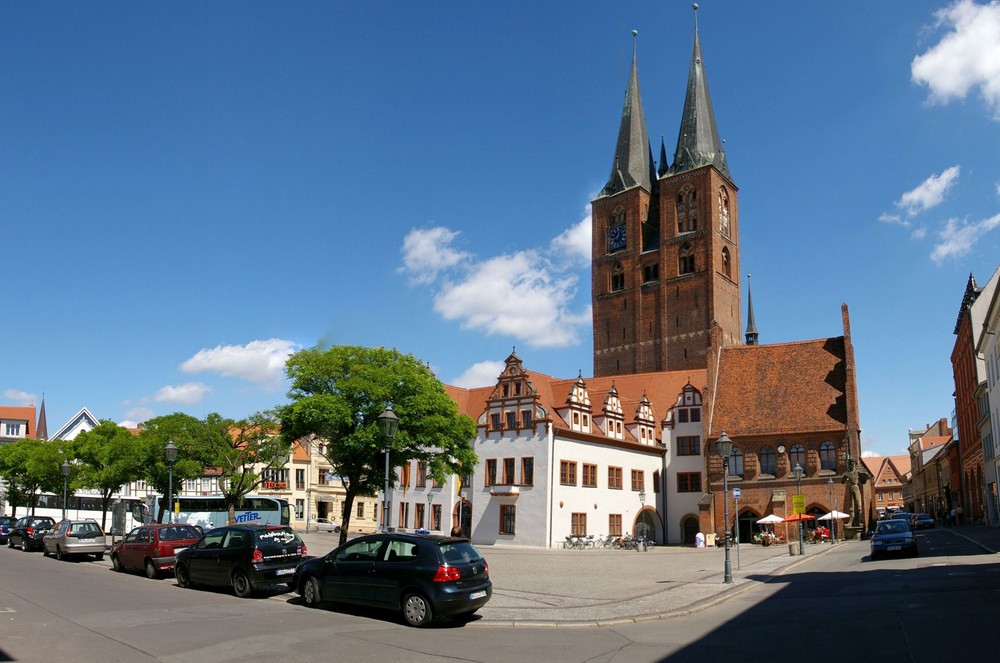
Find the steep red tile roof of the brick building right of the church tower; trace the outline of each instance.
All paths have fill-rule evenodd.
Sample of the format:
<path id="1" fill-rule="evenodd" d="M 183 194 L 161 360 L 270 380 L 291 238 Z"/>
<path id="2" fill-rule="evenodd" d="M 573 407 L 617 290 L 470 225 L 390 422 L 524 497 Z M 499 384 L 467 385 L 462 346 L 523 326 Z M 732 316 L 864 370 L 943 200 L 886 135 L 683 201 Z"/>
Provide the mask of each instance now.
<path id="1" fill-rule="evenodd" d="M 847 426 L 844 337 L 722 349 L 709 439 Z"/>

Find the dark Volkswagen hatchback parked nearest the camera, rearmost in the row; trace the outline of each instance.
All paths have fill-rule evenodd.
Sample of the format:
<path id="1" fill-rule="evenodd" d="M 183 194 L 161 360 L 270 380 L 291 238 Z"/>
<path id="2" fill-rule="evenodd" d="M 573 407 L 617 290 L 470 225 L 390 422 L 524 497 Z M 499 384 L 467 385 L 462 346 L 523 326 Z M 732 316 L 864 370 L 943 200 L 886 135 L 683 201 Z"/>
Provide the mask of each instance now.
<path id="1" fill-rule="evenodd" d="M 468 539 L 386 533 L 348 541 L 295 569 L 307 606 L 323 601 L 398 610 L 411 626 L 469 616 L 493 595 L 489 566 Z"/>

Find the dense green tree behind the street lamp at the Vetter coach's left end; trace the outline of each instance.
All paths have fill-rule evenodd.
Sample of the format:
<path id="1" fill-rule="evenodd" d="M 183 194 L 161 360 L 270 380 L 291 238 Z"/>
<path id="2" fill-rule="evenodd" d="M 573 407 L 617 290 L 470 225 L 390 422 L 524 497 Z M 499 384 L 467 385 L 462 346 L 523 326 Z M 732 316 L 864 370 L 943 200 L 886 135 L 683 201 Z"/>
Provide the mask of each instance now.
<path id="1" fill-rule="evenodd" d="M 175 412 L 148 420 L 139 433 L 139 443 L 143 456 L 143 478 L 147 485 L 167 495 L 170 488 L 170 465 L 167 463 L 166 448 L 170 442 L 177 447 L 174 462 L 174 495 L 181 482 L 196 479 L 205 472 L 205 461 L 210 456 L 208 444 L 211 434 L 205 421 L 188 414 Z M 153 514 L 157 522 L 163 522 L 167 500 L 160 500 L 160 508 Z"/>

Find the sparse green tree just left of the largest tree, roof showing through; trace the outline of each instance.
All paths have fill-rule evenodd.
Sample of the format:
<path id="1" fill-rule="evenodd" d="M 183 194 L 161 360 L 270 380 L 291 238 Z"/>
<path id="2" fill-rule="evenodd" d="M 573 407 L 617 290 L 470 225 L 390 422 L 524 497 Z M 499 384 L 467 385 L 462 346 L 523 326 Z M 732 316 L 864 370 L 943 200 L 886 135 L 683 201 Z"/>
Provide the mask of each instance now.
<path id="1" fill-rule="evenodd" d="M 243 497 L 263 482 L 263 471 L 286 465 L 291 444 L 279 434 L 272 412 L 257 412 L 240 421 L 210 414 L 205 426 L 205 464 L 219 471 L 219 488 L 231 523 Z"/>

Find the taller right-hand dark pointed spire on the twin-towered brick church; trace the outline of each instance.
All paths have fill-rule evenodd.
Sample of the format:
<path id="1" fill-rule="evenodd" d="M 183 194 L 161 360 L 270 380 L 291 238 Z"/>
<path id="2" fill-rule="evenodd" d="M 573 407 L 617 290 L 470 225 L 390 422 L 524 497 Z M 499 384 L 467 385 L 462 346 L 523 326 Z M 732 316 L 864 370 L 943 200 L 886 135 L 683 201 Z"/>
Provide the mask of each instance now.
<path id="1" fill-rule="evenodd" d="M 719 140 L 719 129 L 715 124 L 712 97 L 708 93 L 708 79 L 701 59 L 701 42 L 698 40 L 698 5 L 694 5 L 694 49 L 691 53 L 691 69 L 688 72 L 687 96 L 684 98 L 684 113 L 681 116 L 681 130 L 677 136 L 677 150 L 671 174 L 683 173 L 709 164 L 715 166 L 726 179 L 732 181 L 726 153 Z"/>

